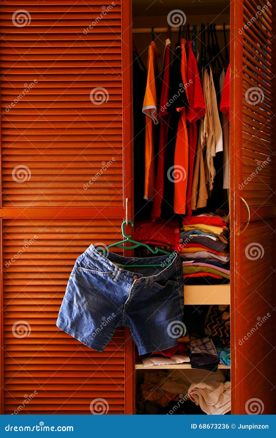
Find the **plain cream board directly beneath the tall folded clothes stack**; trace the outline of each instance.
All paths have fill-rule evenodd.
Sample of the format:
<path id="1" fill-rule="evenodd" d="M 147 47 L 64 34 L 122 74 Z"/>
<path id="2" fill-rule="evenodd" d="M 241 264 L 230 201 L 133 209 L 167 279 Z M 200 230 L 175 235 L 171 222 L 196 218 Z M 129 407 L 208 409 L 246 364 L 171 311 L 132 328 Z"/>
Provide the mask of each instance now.
<path id="1" fill-rule="evenodd" d="M 184 285 L 184 305 L 230 304 L 230 284 Z"/>

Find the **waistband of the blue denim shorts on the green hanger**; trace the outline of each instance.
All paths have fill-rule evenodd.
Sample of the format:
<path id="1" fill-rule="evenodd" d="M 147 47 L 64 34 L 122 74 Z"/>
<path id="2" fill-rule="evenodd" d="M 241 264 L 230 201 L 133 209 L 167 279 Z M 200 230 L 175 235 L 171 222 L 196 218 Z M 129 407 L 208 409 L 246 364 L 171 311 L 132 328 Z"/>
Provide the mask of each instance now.
<path id="1" fill-rule="evenodd" d="M 128 281 L 133 281 L 133 274 L 137 275 L 139 279 L 144 279 L 149 285 L 153 281 L 158 281 L 159 279 L 164 279 L 164 277 L 171 277 L 174 274 L 177 274 L 178 269 L 180 269 L 182 273 L 182 261 L 180 257 L 175 255 L 174 259 L 172 260 L 171 264 L 167 267 L 165 267 L 161 272 L 151 275 L 151 276 L 142 276 L 142 274 L 135 273 L 135 272 L 129 272 L 125 269 L 119 267 L 118 265 L 155 265 L 155 264 L 161 264 L 161 263 L 168 263 L 168 255 L 159 255 L 154 257 L 123 257 L 121 255 L 118 255 L 114 252 L 109 252 L 108 250 L 104 250 L 101 248 L 101 251 L 103 251 L 103 254 L 97 251 L 96 247 L 91 244 L 87 250 L 85 251 L 85 254 L 89 254 L 92 258 L 98 261 L 102 266 L 107 268 L 107 270 L 110 270 L 112 272 L 118 273 L 120 272 L 121 275 L 124 276 L 124 278 Z M 111 260 L 109 260 L 111 258 Z M 118 274 L 119 276 L 119 274 Z"/>

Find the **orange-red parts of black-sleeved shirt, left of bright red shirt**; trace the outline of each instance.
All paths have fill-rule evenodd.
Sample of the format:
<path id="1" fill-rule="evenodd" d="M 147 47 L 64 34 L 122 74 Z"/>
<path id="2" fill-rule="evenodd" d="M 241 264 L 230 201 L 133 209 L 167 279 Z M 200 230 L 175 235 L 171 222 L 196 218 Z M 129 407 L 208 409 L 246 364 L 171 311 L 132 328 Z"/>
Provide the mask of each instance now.
<path id="1" fill-rule="evenodd" d="M 186 40 L 181 39 L 181 75 L 183 88 L 189 102 L 189 91 L 187 81 L 187 57 L 185 51 Z M 177 108 L 180 111 L 180 119 L 178 121 L 177 137 L 175 142 L 175 162 L 174 162 L 174 177 L 175 177 L 175 194 L 174 194 L 174 212 L 185 214 L 186 205 L 186 190 L 188 182 L 188 164 L 189 164 L 189 145 L 188 132 L 186 126 L 186 108 Z"/>

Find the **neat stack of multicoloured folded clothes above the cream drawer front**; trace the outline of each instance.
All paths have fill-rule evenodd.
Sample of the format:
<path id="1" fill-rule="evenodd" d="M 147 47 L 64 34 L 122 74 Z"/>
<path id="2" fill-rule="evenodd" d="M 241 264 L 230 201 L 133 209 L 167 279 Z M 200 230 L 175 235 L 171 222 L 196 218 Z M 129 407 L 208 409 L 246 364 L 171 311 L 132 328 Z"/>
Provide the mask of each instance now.
<path id="1" fill-rule="evenodd" d="M 206 283 L 225 283 L 229 280 L 229 228 L 218 216 L 201 214 L 183 219 L 180 232 L 180 256 L 183 261 L 185 283 L 202 279 Z"/>

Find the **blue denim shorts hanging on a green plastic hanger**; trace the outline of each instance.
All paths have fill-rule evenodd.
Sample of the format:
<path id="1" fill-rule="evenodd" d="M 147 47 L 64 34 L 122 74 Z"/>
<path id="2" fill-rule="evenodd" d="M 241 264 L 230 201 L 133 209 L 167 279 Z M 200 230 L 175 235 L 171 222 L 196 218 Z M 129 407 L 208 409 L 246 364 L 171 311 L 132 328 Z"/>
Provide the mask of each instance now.
<path id="1" fill-rule="evenodd" d="M 129 327 L 139 354 L 176 346 L 184 331 L 182 261 L 176 255 L 165 268 L 143 266 L 155 264 L 168 264 L 168 256 L 104 256 L 90 245 L 74 265 L 56 325 L 98 351 L 122 326 Z"/>

